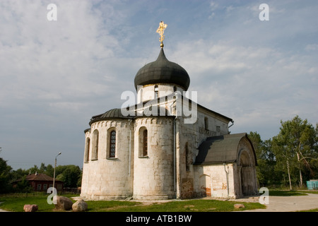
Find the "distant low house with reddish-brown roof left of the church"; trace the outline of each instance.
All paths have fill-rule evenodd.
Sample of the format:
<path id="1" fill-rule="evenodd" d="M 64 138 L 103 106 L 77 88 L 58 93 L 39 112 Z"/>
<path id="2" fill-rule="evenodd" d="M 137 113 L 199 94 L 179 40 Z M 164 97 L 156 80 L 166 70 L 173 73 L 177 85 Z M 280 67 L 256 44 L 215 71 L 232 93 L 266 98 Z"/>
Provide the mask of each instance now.
<path id="1" fill-rule="evenodd" d="M 47 174 L 29 174 L 25 178 L 30 186 L 33 188 L 33 191 L 47 191 L 49 187 L 53 186 L 53 177 L 47 176 Z M 22 179 L 18 179 L 13 182 L 13 187 L 18 184 Z M 59 179 L 55 179 L 54 187 L 57 191 L 62 191 L 64 182 L 61 182 Z"/>

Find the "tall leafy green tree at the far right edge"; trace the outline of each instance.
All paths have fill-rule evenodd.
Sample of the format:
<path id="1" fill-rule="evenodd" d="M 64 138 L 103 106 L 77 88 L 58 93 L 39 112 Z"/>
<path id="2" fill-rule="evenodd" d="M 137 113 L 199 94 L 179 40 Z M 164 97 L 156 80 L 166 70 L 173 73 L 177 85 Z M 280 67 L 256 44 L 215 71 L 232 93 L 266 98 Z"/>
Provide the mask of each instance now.
<path id="1" fill-rule="evenodd" d="M 273 137 L 272 148 L 278 165 L 287 171 L 290 189 L 293 182 L 298 182 L 302 187 L 306 170 L 311 175 L 317 173 L 314 171 L 317 128 L 314 129 L 307 119 L 302 120 L 296 116 L 292 120 L 281 121 L 280 132 Z"/>

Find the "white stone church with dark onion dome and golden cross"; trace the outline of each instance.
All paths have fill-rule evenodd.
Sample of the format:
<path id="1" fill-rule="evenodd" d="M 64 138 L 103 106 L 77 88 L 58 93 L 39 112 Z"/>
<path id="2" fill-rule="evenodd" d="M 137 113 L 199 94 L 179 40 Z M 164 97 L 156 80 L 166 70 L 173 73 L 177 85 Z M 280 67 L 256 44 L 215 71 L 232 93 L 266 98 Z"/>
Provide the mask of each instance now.
<path id="1" fill-rule="evenodd" d="M 230 134 L 232 119 L 185 97 L 189 84 L 187 71 L 165 57 L 162 39 L 158 59 L 134 78 L 137 104 L 90 119 L 85 130 L 83 198 L 258 194 L 257 159 L 247 133 Z"/>

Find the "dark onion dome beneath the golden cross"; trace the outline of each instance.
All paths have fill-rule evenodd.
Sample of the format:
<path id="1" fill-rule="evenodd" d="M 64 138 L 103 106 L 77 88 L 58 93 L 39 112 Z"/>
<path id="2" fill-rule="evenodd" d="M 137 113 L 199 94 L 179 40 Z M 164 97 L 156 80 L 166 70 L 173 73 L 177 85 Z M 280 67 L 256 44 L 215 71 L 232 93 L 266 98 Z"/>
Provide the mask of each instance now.
<path id="1" fill-rule="evenodd" d="M 163 52 L 163 48 L 160 50 L 160 54 L 156 61 L 143 66 L 136 73 L 135 76 L 135 88 L 137 85 L 149 85 L 158 83 L 170 83 L 180 85 L 184 90 L 187 90 L 190 85 L 190 78 L 186 70 L 171 61 L 168 61 Z"/>

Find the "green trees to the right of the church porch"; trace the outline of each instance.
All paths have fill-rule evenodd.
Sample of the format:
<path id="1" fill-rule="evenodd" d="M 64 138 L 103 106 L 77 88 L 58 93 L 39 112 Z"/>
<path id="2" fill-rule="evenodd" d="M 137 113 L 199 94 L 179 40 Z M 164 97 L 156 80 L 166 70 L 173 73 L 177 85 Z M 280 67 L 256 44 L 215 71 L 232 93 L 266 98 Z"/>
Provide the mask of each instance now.
<path id="1" fill-rule="evenodd" d="M 257 155 L 259 186 L 305 188 L 318 179 L 318 124 L 314 127 L 299 116 L 281 121 L 278 135 L 262 141 L 257 132 L 249 139 Z"/>

